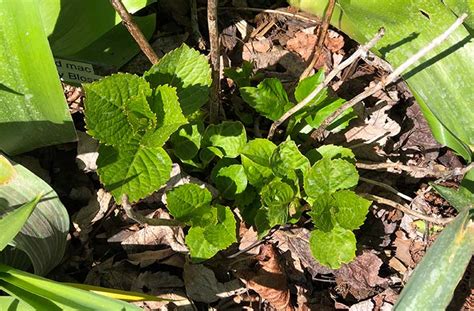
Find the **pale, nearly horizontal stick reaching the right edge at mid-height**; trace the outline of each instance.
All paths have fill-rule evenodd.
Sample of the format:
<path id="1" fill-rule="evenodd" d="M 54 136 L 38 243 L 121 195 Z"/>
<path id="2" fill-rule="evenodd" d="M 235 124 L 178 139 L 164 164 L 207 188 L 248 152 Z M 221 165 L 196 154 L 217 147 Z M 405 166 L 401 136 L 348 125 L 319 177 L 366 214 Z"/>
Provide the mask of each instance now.
<path id="1" fill-rule="evenodd" d="M 401 163 L 362 163 L 357 162 L 356 167 L 363 170 L 387 170 L 387 169 L 397 169 L 411 174 L 419 174 L 423 177 L 433 177 L 433 178 L 450 178 L 453 176 L 461 176 L 466 174 L 471 168 L 474 167 L 474 163 L 469 164 L 464 168 L 455 168 L 446 172 L 436 172 L 429 168 L 418 167 L 413 165 L 405 165 Z"/>

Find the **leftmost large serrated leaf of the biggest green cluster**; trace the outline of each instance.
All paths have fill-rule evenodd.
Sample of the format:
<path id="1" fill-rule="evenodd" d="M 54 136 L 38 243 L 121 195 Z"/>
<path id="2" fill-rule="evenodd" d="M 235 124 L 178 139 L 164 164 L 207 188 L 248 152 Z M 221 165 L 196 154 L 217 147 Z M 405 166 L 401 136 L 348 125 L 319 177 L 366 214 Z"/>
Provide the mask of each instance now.
<path id="1" fill-rule="evenodd" d="M 151 112 L 146 102 L 143 102 L 143 98 L 152 94 L 150 86 L 136 75 L 114 74 L 84 84 L 84 90 L 88 133 L 103 144 L 127 144 L 136 136 L 136 128 L 130 124 L 128 115 L 133 114 L 133 111 Z"/>

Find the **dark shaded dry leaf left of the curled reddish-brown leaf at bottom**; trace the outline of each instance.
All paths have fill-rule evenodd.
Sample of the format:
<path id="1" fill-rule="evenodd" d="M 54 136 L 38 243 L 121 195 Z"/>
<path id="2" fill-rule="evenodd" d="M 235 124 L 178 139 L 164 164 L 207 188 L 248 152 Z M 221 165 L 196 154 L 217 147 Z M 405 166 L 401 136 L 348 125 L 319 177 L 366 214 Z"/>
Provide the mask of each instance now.
<path id="1" fill-rule="evenodd" d="M 211 303 L 244 290 L 238 280 L 219 282 L 214 272 L 202 264 L 186 263 L 183 277 L 186 293 L 195 301 Z"/>

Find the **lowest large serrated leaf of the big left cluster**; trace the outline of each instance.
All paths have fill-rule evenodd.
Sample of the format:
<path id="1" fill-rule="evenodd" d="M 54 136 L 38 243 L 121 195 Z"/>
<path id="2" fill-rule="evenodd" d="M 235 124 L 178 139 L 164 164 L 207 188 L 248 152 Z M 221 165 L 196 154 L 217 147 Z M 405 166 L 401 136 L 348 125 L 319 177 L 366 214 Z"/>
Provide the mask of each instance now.
<path id="1" fill-rule="evenodd" d="M 130 202 L 136 202 L 168 181 L 171 164 L 163 148 L 133 139 L 120 148 L 100 145 L 97 172 L 116 201 L 127 194 Z"/>

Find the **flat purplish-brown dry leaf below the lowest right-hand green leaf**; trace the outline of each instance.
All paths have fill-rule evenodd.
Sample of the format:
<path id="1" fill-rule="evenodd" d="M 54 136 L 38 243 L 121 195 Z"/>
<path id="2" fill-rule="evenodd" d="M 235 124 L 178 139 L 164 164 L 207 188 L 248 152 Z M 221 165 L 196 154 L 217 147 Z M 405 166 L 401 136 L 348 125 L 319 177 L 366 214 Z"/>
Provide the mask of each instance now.
<path id="1" fill-rule="evenodd" d="M 350 293 L 356 299 L 362 300 L 373 296 L 377 287 L 387 286 L 388 281 L 378 275 L 381 265 L 380 258 L 365 251 L 354 261 L 335 271 L 336 283 L 342 295 L 345 297 Z"/>

